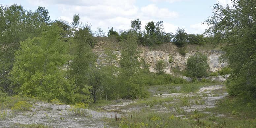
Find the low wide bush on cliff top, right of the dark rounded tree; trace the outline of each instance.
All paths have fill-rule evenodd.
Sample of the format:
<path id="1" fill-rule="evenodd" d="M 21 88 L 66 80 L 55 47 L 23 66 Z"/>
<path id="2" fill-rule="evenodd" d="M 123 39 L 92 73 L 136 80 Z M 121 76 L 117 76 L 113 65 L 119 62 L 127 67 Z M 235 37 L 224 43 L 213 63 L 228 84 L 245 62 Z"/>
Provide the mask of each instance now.
<path id="1" fill-rule="evenodd" d="M 188 42 L 191 44 L 206 44 L 206 39 L 203 34 L 188 34 Z"/>

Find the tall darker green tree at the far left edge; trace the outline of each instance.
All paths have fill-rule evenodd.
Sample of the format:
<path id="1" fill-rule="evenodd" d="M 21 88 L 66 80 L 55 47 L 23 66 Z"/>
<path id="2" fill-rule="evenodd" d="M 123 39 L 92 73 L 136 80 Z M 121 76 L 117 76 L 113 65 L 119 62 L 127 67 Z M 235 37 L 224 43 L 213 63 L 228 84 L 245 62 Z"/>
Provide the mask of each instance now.
<path id="1" fill-rule="evenodd" d="M 9 85 L 10 71 L 13 68 L 15 52 L 20 47 L 20 42 L 28 37 L 40 36 L 42 22 L 38 12 L 24 10 L 20 5 L 4 7 L 0 5 L 0 88 L 12 93 Z"/>

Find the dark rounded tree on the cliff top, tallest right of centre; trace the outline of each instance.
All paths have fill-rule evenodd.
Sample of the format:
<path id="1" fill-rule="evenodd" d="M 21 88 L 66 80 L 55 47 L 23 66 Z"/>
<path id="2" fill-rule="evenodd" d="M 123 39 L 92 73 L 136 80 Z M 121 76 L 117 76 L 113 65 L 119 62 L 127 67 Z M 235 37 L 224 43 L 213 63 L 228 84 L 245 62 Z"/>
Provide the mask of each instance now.
<path id="1" fill-rule="evenodd" d="M 187 42 L 187 38 L 188 38 L 188 35 L 185 32 L 184 28 L 183 29 L 178 28 L 176 31 L 176 34 L 174 35 L 173 41 L 177 47 L 183 47 Z"/>

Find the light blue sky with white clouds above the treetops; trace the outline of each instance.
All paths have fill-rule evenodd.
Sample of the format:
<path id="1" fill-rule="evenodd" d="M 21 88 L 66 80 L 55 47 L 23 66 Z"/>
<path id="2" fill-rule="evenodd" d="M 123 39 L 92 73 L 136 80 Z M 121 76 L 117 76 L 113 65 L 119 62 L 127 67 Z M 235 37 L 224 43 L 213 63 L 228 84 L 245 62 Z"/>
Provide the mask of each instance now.
<path id="1" fill-rule="evenodd" d="M 35 11 L 38 6 L 48 9 L 51 20 L 72 22 L 79 14 L 80 22 L 91 24 L 108 32 L 111 27 L 119 32 L 131 28 L 131 21 L 139 18 L 142 30 L 149 21 L 163 21 L 166 32 L 176 33 L 184 28 L 188 34 L 203 34 L 202 24 L 212 15 L 212 6 L 231 5 L 231 0 L 0 0 L 0 4 L 21 5 Z"/>

